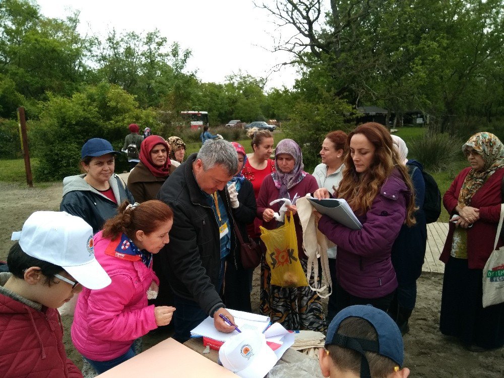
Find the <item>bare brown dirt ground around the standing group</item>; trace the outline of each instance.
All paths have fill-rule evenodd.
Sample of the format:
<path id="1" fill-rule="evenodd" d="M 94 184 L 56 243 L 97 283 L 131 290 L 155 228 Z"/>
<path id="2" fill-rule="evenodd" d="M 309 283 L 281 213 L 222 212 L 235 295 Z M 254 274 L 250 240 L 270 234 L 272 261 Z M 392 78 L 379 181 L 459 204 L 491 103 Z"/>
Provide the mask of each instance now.
<path id="1" fill-rule="evenodd" d="M 0 182 L 0 260 L 5 260 L 12 245 L 12 231 L 19 231 L 25 219 L 36 210 L 58 210 L 62 184 L 50 183 L 38 188 L 25 188 L 17 184 Z M 259 278 L 256 271 L 253 291 L 253 308 L 259 302 Z M 484 377 L 504 376 L 504 348 L 474 353 L 452 338 L 439 332 L 439 307 L 443 275 L 422 274 L 418 280 L 418 298 L 411 317 L 410 332 L 404 336 L 405 366 L 413 377 Z M 64 319 L 67 353 L 78 366 L 82 359 L 70 340 L 72 319 Z M 147 335 L 144 348 L 155 345 L 166 335 Z"/>

